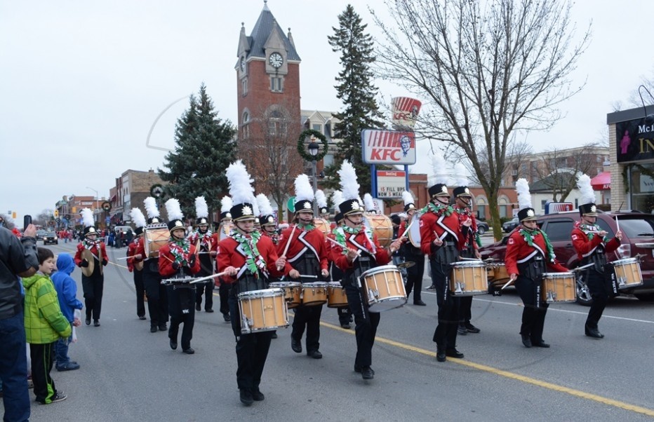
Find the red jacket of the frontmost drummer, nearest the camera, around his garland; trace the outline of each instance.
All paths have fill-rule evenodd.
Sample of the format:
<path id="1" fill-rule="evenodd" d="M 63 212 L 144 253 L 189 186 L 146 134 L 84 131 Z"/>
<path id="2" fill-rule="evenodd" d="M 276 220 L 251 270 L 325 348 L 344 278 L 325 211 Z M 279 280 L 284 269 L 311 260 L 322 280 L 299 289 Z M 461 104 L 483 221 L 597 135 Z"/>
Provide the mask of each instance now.
<path id="1" fill-rule="evenodd" d="M 272 240 L 267 236 L 261 236 L 257 243 L 257 250 L 261 254 L 261 257 L 266 263 L 266 268 L 268 273 L 273 277 L 281 277 L 281 275 L 288 274 L 288 271 L 277 271 L 275 266 L 275 261 L 277 257 L 277 252 L 275 247 L 272 244 Z M 240 268 L 239 273 L 236 276 L 232 275 L 222 275 L 220 277 L 221 281 L 232 284 L 239 279 L 239 276 L 243 274 L 246 269 L 246 254 L 241 248 L 236 240 L 233 238 L 225 238 L 220 240 L 218 243 L 218 255 L 216 256 L 216 265 L 218 266 L 218 272 L 222 273 L 225 271 L 225 268 L 228 266 L 233 266 L 234 268 Z"/>

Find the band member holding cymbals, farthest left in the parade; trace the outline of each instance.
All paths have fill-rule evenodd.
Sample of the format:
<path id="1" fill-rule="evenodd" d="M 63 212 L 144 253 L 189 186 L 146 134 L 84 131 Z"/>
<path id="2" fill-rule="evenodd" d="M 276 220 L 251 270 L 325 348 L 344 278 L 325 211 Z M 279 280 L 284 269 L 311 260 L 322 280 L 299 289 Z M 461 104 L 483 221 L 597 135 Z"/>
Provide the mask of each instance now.
<path id="1" fill-rule="evenodd" d="M 77 244 L 75 252 L 75 265 L 88 267 L 91 262 L 88 260 L 88 252 L 93 257 L 93 273 L 84 275 L 82 273 L 82 290 L 84 291 L 84 302 L 86 305 L 86 325 L 100 327 L 100 310 L 102 308 L 102 290 L 105 286 L 105 275 L 102 267 L 109 263 L 105 243 L 98 238 L 98 230 L 95 229 L 93 211 L 88 208 L 81 210 L 82 222 L 84 223 L 84 241 Z M 85 252 L 88 251 L 88 252 Z"/>

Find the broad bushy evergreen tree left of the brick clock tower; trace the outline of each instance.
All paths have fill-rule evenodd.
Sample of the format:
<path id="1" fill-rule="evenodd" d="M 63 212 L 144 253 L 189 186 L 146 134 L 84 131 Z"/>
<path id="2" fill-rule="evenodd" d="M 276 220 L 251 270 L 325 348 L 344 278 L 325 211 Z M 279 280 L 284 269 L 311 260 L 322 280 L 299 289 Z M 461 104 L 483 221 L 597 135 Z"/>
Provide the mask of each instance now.
<path id="1" fill-rule="evenodd" d="M 159 176 L 168 198 L 176 198 L 184 215 L 195 215 L 195 198 L 204 196 L 210 212 L 220 209 L 220 198 L 227 195 L 229 186 L 225 170 L 235 159 L 234 135 L 236 128 L 230 121 L 218 118 L 213 102 L 200 86 L 199 98 L 189 98 L 189 109 L 175 125 L 175 150 L 166 154 Z"/>

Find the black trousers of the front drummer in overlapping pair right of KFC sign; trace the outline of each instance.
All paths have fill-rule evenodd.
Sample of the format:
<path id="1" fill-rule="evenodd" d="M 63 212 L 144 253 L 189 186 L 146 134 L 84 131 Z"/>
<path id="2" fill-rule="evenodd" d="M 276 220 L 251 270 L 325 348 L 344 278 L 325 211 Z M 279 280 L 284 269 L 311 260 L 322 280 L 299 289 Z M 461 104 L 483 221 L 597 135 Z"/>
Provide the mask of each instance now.
<path id="1" fill-rule="evenodd" d="M 450 266 L 436 259 L 429 259 L 429 266 L 432 269 L 432 285 L 436 286 L 436 304 L 439 306 L 439 322 L 432 340 L 439 349 L 455 348 L 460 300 L 450 292 Z"/>

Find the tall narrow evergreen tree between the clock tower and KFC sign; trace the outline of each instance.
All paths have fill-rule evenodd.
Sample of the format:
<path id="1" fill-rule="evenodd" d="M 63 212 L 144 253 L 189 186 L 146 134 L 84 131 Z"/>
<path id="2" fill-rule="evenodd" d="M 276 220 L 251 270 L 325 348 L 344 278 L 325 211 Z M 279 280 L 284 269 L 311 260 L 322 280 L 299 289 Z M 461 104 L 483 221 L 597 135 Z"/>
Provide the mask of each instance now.
<path id="1" fill-rule="evenodd" d="M 375 62 L 373 55 L 373 37 L 366 34 L 368 25 L 361 23 L 361 18 L 352 5 L 347 5 L 345 11 L 338 15 L 339 27 L 332 28 L 333 36 L 327 39 L 332 50 L 341 53 L 339 72 L 335 86 L 337 97 L 345 104 L 345 109 L 335 114 L 340 123 L 335 125 L 335 137 L 340 139 L 333 165 L 325 169 L 328 180 L 323 185 L 338 189 L 338 170 L 344 159 L 352 162 L 356 176 L 361 185 L 361 195 L 371 192 L 371 170 L 363 163 L 361 157 L 361 130 L 382 128 L 377 100 L 378 88 L 372 83 L 373 72 L 371 64 Z"/>

